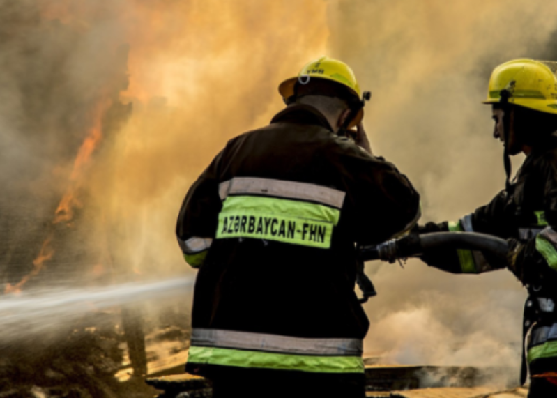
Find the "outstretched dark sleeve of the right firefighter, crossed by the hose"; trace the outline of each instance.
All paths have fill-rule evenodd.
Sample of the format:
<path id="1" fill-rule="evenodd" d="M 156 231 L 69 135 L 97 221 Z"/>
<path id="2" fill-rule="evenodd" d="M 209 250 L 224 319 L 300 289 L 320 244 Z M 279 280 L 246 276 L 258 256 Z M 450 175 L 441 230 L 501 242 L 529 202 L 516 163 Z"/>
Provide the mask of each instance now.
<path id="1" fill-rule="evenodd" d="M 494 199 L 482 206 L 472 214 L 462 217 L 457 222 L 442 222 L 434 224 L 429 222 L 418 227 L 420 234 L 443 231 L 480 232 L 494 236 L 505 236 L 505 201 L 507 193 L 503 190 Z M 437 250 L 434 253 L 424 254 L 422 261 L 449 273 L 486 273 L 492 270 L 505 268 L 505 262 L 491 257 L 477 250 Z"/>

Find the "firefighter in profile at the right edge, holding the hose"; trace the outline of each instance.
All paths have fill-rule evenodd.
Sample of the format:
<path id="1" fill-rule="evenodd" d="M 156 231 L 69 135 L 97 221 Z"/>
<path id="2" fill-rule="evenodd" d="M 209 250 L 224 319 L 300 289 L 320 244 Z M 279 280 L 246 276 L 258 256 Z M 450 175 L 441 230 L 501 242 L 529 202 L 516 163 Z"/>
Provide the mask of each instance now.
<path id="1" fill-rule="evenodd" d="M 547 64 L 517 59 L 491 74 L 484 103 L 492 106 L 494 137 L 505 148 L 505 189 L 457 222 L 418 228 L 420 233 L 470 231 L 508 239 L 507 263 L 471 250 L 441 250 L 422 259 L 450 273 L 506 266 L 528 289 L 521 371 L 523 384 L 530 371 L 528 397 L 557 397 L 557 79 Z M 510 183 L 509 156 L 518 153 L 526 160 Z"/>

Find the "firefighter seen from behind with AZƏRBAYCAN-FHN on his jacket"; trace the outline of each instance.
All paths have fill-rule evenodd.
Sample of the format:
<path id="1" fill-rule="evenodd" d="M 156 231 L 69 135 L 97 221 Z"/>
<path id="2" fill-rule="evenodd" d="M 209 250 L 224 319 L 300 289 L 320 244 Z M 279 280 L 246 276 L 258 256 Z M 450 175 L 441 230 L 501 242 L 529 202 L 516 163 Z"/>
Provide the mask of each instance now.
<path id="1" fill-rule="evenodd" d="M 419 195 L 370 153 L 345 63 L 316 59 L 279 91 L 287 107 L 228 141 L 183 201 L 178 243 L 199 270 L 186 370 L 215 398 L 364 397 L 355 245 L 413 227 Z"/>

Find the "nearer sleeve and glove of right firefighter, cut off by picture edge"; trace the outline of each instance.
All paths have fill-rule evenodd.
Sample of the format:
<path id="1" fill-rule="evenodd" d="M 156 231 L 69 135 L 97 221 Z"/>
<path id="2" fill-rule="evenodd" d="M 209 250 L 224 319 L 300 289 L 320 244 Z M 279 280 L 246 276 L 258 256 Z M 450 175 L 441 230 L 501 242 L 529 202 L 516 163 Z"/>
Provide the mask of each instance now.
<path id="1" fill-rule="evenodd" d="M 516 242 L 509 255 L 509 268 L 524 284 L 557 291 L 557 162 L 544 162 L 544 212 L 547 227 L 529 240 Z"/>

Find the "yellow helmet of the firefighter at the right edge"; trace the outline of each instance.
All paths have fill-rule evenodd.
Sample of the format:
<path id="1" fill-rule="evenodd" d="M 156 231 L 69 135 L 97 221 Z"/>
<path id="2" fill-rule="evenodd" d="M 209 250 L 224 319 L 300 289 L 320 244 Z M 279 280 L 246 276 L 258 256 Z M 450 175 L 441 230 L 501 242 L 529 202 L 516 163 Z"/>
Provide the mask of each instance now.
<path id="1" fill-rule="evenodd" d="M 487 100 L 483 103 L 500 102 L 501 91 L 508 90 L 510 104 L 557 114 L 557 77 L 554 74 L 554 65 L 555 63 L 533 59 L 514 59 L 502 63 L 491 73 Z"/>

